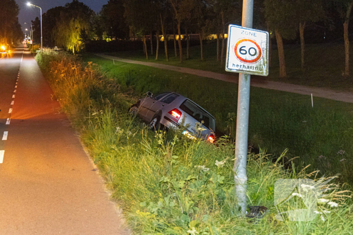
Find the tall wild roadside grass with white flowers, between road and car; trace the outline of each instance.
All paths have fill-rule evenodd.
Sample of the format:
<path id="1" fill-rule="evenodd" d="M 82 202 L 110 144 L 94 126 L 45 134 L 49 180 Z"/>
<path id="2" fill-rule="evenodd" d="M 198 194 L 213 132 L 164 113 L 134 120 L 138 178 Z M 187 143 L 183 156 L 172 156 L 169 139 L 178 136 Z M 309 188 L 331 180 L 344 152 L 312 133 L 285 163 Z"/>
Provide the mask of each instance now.
<path id="1" fill-rule="evenodd" d="M 264 205 L 270 211 L 257 222 L 239 217 L 231 170 L 233 145 L 226 139 L 209 144 L 180 132 L 147 130 L 127 114 L 129 103 L 136 99 L 127 95 L 126 84 L 119 84 L 127 78 L 139 79 L 138 74 L 110 79 L 96 65 L 83 65 L 75 56 L 45 52 L 36 59 L 135 233 L 351 233 L 352 201 L 342 196 L 350 193 L 338 192 L 342 188 L 326 192 L 325 198 L 338 205 L 319 203 L 317 211 L 322 214 L 312 221 L 275 220 L 274 182 L 314 175 L 285 170 L 264 153 L 249 154 L 247 193 L 249 205 Z M 296 196 L 288 206 L 299 201 Z"/>

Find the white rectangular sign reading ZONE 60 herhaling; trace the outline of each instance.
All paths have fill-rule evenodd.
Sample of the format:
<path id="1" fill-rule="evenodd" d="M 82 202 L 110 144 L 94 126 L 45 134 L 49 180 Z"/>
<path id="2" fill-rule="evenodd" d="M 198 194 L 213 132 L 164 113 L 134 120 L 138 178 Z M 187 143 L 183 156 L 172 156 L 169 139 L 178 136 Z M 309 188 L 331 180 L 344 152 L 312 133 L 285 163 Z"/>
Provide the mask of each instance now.
<path id="1" fill-rule="evenodd" d="M 268 40 L 266 31 L 229 25 L 225 70 L 267 76 Z"/>

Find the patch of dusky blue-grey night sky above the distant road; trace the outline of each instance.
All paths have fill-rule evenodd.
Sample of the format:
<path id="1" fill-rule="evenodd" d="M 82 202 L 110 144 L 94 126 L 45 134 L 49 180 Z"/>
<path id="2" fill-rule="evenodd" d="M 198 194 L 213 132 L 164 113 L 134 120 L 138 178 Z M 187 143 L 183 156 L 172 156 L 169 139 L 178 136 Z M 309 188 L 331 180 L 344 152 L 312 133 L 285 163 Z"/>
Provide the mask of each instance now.
<path id="1" fill-rule="evenodd" d="M 19 22 L 22 25 L 22 30 L 24 33 L 26 32 L 26 28 L 31 27 L 30 25 L 25 25 L 24 23 L 31 23 L 31 21 L 34 21 L 36 17 L 40 17 L 39 8 L 28 7 L 28 2 L 42 8 L 42 13 L 45 13 L 50 8 L 64 6 L 67 3 L 71 3 L 72 0 L 16 0 L 16 3 L 20 7 L 20 14 L 18 16 Z M 94 12 L 99 12 L 102 9 L 102 6 L 108 2 L 108 0 L 79 0 L 79 2 L 86 4 Z"/>

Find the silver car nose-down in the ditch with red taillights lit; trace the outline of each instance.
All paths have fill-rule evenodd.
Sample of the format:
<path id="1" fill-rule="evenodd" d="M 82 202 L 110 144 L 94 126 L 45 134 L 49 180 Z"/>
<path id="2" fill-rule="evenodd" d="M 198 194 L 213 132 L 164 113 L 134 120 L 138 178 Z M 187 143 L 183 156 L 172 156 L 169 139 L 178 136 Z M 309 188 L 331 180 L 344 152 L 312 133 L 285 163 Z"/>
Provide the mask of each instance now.
<path id="1" fill-rule="evenodd" d="M 149 123 L 151 129 L 158 129 L 159 125 L 179 128 L 184 121 L 183 134 L 189 138 L 201 137 L 211 143 L 215 140 L 215 118 L 195 102 L 177 93 L 153 95 L 147 92 L 147 97 L 132 105 L 129 112 Z"/>

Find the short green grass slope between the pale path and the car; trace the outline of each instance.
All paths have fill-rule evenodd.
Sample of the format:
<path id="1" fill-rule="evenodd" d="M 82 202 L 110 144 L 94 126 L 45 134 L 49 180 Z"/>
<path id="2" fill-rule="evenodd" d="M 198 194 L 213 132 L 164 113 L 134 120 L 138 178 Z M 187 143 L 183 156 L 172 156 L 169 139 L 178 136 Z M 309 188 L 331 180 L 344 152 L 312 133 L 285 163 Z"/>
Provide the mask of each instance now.
<path id="1" fill-rule="evenodd" d="M 175 91 L 194 100 L 216 118 L 216 133 L 234 137 L 237 84 L 143 65 L 116 61 L 113 65 L 96 56 L 85 60 L 100 64 L 124 87 L 134 86 L 139 93 Z M 288 148 L 290 157 L 300 156 L 312 170 L 340 173 L 343 182 L 353 183 L 353 104 L 315 98 L 312 108 L 309 96 L 252 88 L 249 123 L 254 147 L 277 156 Z M 345 153 L 338 154 L 339 150 Z"/>

